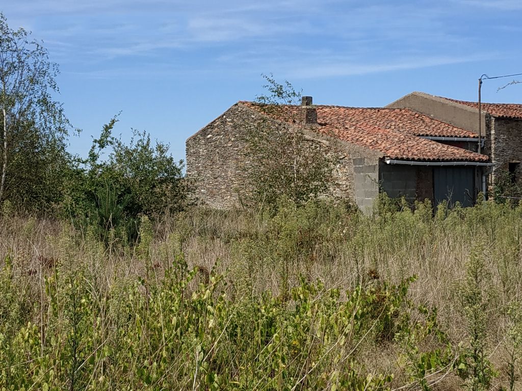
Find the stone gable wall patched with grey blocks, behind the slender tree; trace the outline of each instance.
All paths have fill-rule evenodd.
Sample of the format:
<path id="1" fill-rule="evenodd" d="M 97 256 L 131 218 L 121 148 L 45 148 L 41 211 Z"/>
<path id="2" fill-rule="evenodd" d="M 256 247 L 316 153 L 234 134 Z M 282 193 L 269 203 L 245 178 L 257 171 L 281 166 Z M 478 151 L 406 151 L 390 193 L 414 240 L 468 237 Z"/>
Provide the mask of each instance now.
<path id="1" fill-rule="evenodd" d="M 250 187 L 246 176 L 245 136 L 252 131 L 279 132 L 284 125 L 236 104 L 186 141 L 187 178 L 197 203 L 216 209 L 238 206 Z M 329 193 L 361 209 L 378 195 L 379 155 L 357 145 L 305 130 L 310 148 L 332 157 L 334 178 Z M 357 191 L 355 190 L 357 188 Z"/>

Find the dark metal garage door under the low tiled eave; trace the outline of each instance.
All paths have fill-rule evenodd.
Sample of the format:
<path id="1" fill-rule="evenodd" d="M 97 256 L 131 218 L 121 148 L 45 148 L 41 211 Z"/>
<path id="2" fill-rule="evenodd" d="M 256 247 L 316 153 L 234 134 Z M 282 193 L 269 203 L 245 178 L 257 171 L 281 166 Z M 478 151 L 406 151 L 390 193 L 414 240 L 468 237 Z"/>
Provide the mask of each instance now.
<path id="1" fill-rule="evenodd" d="M 433 167 L 435 204 L 446 200 L 449 206 L 456 201 L 473 206 L 474 172 L 473 167 Z"/>

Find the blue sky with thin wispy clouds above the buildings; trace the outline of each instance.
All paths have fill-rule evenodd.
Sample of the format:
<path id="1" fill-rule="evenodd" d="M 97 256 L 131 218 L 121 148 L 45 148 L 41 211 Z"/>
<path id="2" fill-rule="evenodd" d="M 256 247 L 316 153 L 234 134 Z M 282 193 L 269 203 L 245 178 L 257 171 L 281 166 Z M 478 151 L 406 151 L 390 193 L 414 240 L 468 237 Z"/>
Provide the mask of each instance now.
<path id="1" fill-rule="evenodd" d="M 70 150 L 122 112 L 131 128 L 185 139 L 238 100 L 263 93 L 261 74 L 316 104 L 382 106 L 411 91 L 476 100 L 477 79 L 522 72 L 522 0 L 17 0 L 11 28 L 43 40 L 73 125 Z M 522 84 L 487 80 L 483 101 L 522 102 Z"/>

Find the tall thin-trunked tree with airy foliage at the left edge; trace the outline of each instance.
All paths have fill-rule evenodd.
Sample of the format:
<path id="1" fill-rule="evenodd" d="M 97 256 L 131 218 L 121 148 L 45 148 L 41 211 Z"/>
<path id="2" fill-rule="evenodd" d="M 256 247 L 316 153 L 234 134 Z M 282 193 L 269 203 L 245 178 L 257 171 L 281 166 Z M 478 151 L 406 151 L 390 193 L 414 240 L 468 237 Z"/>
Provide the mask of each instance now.
<path id="1" fill-rule="evenodd" d="M 70 124 L 52 98 L 57 74 L 41 43 L 0 13 L 0 203 L 45 210 L 60 200 Z"/>

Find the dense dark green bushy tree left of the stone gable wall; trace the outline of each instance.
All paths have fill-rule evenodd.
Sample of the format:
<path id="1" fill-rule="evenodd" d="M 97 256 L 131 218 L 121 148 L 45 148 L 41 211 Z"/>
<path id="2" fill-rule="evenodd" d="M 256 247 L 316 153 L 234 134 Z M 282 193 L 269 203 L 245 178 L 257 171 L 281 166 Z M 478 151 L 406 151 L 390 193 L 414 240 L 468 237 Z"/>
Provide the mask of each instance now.
<path id="1" fill-rule="evenodd" d="M 87 218 L 100 236 L 136 238 L 139 217 L 158 218 L 183 209 L 187 185 L 183 161 L 169 154 L 169 145 L 152 142 L 150 135 L 133 129 L 126 144 L 112 136 L 117 117 L 104 125 L 93 140 L 88 158 L 69 172 L 65 210 L 76 219 Z M 102 152 L 109 154 L 102 160 Z"/>

